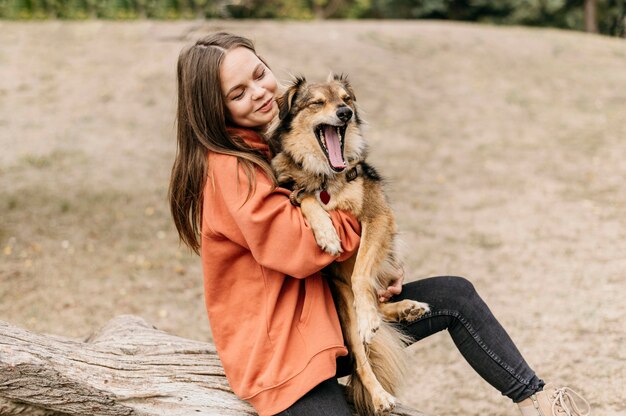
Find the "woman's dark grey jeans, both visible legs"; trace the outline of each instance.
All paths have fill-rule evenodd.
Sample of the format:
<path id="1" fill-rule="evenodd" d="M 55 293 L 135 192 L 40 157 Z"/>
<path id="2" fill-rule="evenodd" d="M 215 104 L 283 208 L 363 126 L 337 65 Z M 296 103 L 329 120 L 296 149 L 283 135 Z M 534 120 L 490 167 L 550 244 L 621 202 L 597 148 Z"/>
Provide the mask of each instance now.
<path id="1" fill-rule="evenodd" d="M 415 341 L 447 329 L 467 362 L 503 395 L 520 402 L 543 389 L 544 382 L 526 364 L 504 328 L 474 286 L 462 277 L 441 276 L 407 283 L 390 302 L 414 299 L 430 305 L 430 312 L 400 328 Z M 346 357 L 337 360 L 337 375 L 351 373 Z M 349 416 L 345 397 L 331 378 L 316 386 L 282 416 Z"/>

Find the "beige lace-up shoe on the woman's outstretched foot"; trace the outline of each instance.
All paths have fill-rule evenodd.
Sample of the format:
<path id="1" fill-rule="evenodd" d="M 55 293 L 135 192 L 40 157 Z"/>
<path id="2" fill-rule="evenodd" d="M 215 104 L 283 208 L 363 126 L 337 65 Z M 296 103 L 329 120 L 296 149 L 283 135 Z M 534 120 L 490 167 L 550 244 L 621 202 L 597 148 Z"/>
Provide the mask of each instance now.
<path id="1" fill-rule="evenodd" d="M 578 403 L 577 403 L 578 401 Z M 578 405 L 583 405 L 581 409 Z M 546 384 L 528 399 L 518 403 L 522 416 L 589 416 L 589 402 L 569 387 Z"/>

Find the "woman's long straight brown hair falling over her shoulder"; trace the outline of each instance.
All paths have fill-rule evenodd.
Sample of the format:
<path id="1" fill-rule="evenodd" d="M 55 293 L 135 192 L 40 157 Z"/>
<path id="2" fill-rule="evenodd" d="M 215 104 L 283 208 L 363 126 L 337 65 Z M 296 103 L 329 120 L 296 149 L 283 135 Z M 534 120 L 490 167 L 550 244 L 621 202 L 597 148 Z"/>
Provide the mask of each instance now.
<path id="1" fill-rule="evenodd" d="M 255 190 L 255 166 L 276 182 L 265 156 L 226 130 L 229 115 L 221 88 L 220 65 L 224 55 L 237 47 L 248 48 L 257 55 L 249 39 L 220 32 L 199 39 L 178 56 L 178 146 L 168 197 L 180 240 L 197 254 L 208 152 L 237 157 L 248 179 L 248 198 Z"/>

